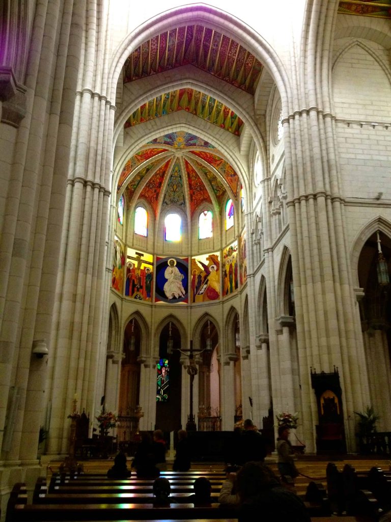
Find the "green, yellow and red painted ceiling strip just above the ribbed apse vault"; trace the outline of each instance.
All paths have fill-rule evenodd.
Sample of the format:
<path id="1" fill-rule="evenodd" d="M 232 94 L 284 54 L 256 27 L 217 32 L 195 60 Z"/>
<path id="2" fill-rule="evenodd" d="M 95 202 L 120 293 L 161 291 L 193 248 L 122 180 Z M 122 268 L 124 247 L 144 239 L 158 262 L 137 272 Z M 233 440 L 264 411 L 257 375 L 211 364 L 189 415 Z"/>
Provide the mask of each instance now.
<path id="1" fill-rule="evenodd" d="M 224 103 L 194 89 L 177 89 L 149 100 L 130 115 L 125 128 L 181 110 L 240 136 L 243 127 L 241 118 Z"/>

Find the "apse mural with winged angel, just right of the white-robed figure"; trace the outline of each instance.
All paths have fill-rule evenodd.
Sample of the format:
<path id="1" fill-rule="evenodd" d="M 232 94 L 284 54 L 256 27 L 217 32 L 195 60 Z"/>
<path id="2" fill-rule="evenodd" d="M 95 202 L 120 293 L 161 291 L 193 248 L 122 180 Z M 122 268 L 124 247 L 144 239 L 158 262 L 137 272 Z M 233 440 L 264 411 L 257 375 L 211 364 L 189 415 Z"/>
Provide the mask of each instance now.
<path id="1" fill-rule="evenodd" d="M 220 299 L 220 262 L 218 252 L 191 259 L 191 302 L 204 303 Z"/>

